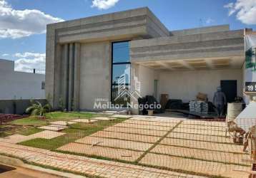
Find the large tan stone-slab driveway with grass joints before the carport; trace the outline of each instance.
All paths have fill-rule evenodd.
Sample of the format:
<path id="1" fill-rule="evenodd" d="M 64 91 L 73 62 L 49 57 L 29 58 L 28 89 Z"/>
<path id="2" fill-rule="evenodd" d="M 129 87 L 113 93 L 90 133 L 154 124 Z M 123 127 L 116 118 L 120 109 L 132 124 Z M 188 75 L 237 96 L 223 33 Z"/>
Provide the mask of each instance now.
<path id="1" fill-rule="evenodd" d="M 250 156 L 225 137 L 225 127 L 223 122 L 132 117 L 58 150 L 192 174 L 247 177 Z"/>

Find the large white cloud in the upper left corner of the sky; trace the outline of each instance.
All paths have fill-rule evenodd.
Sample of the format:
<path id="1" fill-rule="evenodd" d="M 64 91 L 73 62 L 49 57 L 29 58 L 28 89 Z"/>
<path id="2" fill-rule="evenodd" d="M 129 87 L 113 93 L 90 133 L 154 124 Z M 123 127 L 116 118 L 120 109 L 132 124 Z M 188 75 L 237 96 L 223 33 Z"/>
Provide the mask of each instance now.
<path id="1" fill-rule="evenodd" d="M 63 21 L 36 9 L 16 10 L 0 0 L 0 38 L 21 38 L 46 32 L 47 23 Z"/>

